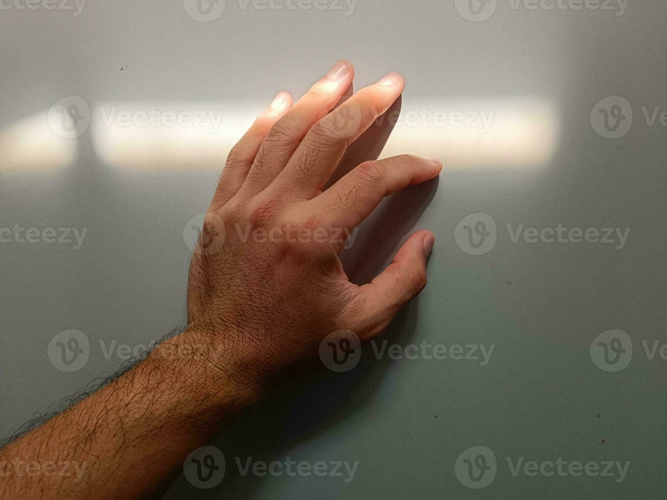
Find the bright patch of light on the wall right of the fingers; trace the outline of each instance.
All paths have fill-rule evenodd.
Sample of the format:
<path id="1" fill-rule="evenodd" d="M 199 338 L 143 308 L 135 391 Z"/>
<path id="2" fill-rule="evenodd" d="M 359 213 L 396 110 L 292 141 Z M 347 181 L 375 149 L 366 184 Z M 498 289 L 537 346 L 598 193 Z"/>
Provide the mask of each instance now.
<path id="1" fill-rule="evenodd" d="M 545 167 L 560 136 L 560 117 L 544 99 L 480 98 L 401 111 L 382 157 L 412 153 L 442 159 L 452 169 Z"/>

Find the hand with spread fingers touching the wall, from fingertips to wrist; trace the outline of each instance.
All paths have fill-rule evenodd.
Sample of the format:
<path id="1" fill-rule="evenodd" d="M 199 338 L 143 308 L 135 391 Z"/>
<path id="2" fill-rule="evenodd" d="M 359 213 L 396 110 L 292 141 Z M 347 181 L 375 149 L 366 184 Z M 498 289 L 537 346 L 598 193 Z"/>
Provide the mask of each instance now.
<path id="1" fill-rule="evenodd" d="M 346 148 L 404 88 L 389 73 L 335 107 L 353 75 L 340 61 L 293 106 L 279 93 L 230 151 L 207 211 L 190 265 L 189 329 L 236 353 L 242 363 L 220 368 L 243 383 L 261 385 L 317 353 L 333 331 L 378 335 L 426 285 L 428 231 L 370 284 L 350 283 L 341 265 L 346 236 L 383 197 L 442 169 L 414 156 L 368 161 L 322 192 Z"/>

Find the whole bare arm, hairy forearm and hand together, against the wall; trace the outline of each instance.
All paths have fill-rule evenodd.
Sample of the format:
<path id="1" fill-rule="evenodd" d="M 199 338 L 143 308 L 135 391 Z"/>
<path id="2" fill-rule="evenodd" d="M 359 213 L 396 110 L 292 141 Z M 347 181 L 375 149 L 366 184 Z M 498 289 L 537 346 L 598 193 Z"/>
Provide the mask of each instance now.
<path id="1" fill-rule="evenodd" d="M 225 417 L 316 356 L 329 333 L 371 339 L 424 288 L 428 231 L 410 236 L 366 285 L 350 283 L 341 265 L 340 231 L 349 234 L 386 195 L 442 169 L 401 156 L 331 179 L 348 146 L 404 88 L 389 73 L 342 102 L 353 76 L 339 61 L 299 101 L 281 92 L 257 117 L 230 151 L 207 211 L 185 331 L 0 449 L 1 498 L 157 495 Z M 65 462 L 81 473 L 56 473 Z"/>

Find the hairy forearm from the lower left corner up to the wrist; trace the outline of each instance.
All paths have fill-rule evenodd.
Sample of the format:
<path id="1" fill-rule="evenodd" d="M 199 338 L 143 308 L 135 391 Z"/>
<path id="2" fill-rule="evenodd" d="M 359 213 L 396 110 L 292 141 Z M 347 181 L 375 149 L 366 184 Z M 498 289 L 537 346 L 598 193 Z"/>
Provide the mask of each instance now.
<path id="1" fill-rule="evenodd" d="M 195 329 L 171 337 L 0 449 L 0 497 L 139 498 L 159 489 L 225 416 L 257 398 L 257 379 L 241 379 L 243 359 L 221 337 Z"/>

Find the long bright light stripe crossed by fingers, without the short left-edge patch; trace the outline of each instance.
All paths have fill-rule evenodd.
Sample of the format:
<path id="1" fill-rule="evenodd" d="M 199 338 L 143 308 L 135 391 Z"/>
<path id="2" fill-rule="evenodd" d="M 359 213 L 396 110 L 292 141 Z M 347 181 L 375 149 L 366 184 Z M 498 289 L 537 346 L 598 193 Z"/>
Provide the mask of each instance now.
<path id="1" fill-rule="evenodd" d="M 203 125 L 195 126 L 120 124 L 109 119 L 114 109 L 132 115 L 150 106 L 101 103 L 91 108 L 93 146 L 103 161 L 115 167 L 221 168 L 229 149 L 265 105 L 153 103 L 161 111 L 210 113 Z M 538 169 L 550 161 L 560 134 L 556 108 L 540 98 L 404 100 L 398 120 L 386 119 L 394 119 L 396 127 L 382 157 L 412 153 L 440 158 L 450 170 Z"/>

